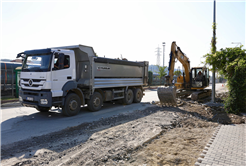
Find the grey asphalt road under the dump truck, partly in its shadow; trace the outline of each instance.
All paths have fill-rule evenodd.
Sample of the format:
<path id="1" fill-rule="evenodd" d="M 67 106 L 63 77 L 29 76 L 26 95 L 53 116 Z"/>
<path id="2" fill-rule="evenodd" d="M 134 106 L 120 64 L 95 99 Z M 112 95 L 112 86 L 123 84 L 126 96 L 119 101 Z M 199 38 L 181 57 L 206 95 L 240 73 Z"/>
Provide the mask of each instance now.
<path id="1" fill-rule="evenodd" d="M 216 89 L 223 91 L 224 86 L 216 84 Z M 0 106 L 0 145 L 60 131 L 84 122 L 97 121 L 100 118 L 107 118 L 134 110 L 143 110 L 152 106 L 145 104 L 146 102 L 158 100 L 157 90 L 150 89 L 145 91 L 145 96 L 141 103 L 127 106 L 117 103 L 105 103 L 98 112 L 89 112 L 86 107 L 82 107 L 80 113 L 73 117 L 65 117 L 61 114 L 61 110 L 55 108 L 52 108 L 48 113 L 40 113 L 34 108 L 20 106 L 19 102 L 4 104 Z"/>

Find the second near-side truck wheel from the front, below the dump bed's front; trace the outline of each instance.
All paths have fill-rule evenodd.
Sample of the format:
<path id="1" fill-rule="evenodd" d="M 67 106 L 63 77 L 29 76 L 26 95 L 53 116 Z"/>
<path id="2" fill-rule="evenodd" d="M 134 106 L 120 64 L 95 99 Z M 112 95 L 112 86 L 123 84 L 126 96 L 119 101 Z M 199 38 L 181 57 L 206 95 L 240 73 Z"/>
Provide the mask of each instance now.
<path id="1" fill-rule="evenodd" d="M 99 92 L 94 92 L 87 105 L 91 112 L 99 111 L 103 105 L 102 95 Z"/>

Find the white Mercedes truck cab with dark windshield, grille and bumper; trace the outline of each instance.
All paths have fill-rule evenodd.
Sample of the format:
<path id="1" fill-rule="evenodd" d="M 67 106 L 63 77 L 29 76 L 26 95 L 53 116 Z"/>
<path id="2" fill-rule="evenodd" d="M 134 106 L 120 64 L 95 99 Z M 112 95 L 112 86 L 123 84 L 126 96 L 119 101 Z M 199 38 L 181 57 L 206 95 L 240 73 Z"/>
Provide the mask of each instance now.
<path id="1" fill-rule="evenodd" d="M 19 92 L 23 105 L 38 110 L 48 110 L 55 103 L 59 105 L 63 86 L 75 80 L 74 51 L 42 49 L 19 55 L 24 56 Z"/>

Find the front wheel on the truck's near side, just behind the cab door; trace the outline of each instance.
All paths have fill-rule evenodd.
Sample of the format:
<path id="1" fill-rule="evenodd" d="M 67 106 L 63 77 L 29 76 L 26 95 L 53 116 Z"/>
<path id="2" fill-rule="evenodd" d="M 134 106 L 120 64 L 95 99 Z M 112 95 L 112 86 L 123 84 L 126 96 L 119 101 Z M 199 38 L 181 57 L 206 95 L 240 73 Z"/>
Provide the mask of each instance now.
<path id="1" fill-rule="evenodd" d="M 62 113 L 65 116 L 77 115 L 80 111 L 81 100 L 75 93 L 69 93 L 65 99 L 65 105 L 62 108 Z"/>

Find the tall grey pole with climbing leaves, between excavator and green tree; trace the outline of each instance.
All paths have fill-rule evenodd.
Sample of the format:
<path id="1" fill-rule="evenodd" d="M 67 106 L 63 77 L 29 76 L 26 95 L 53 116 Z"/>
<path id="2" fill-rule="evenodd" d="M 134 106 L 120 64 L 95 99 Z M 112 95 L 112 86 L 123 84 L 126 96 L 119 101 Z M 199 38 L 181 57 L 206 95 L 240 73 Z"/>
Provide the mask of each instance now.
<path id="1" fill-rule="evenodd" d="M 215 47 L 215 50 L 212 49 L 212 54 L 215 54 L 216 52 L 216 21 L 215 21 L 215 14 L 216 14 L 216 0 L 214 0 L 214 22 L 213 22 L 213 40 L 212 42 L 212 47 Z M 215 66 L 213 66 L 214 71 L 213 71 L 213 80 L 212 80 L 212 102 L 215 103 Z"/>

